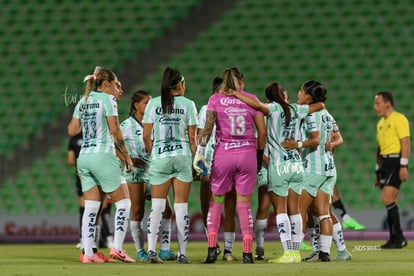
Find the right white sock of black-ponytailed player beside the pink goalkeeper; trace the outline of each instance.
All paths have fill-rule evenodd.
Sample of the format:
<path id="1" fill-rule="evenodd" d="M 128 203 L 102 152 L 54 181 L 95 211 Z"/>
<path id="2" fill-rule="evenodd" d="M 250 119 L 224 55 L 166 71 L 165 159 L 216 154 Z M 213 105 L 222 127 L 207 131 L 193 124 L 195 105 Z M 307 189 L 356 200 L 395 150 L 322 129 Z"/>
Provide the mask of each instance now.
<path id="1" fill-rule="evenodd" d="M 188 203 L 174 203 L 175 222 L 177 224 L 178 252 L 187 255 L 188 233 L 190 231 L 190 217 Z"/>

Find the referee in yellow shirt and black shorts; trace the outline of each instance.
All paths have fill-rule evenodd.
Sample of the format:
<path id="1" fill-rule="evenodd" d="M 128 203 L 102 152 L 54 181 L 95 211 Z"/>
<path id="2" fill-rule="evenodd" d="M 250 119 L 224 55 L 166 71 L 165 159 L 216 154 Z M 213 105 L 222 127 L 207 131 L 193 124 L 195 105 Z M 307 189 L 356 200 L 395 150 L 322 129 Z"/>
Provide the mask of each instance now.
<path id="1" fill-rule="evenodd" d="M 407 245 L 398 212 L 398 191 L 408 179 L 410 156 L 410 128 L 404 114 L 394 110 L 390 92 L 378 92 L 374 109 L 381 119 L 377 123 L 377 183 L 382 189 L 381 199 L 387 208 L 389 240 L 382 248 L 403 248 Z"/>

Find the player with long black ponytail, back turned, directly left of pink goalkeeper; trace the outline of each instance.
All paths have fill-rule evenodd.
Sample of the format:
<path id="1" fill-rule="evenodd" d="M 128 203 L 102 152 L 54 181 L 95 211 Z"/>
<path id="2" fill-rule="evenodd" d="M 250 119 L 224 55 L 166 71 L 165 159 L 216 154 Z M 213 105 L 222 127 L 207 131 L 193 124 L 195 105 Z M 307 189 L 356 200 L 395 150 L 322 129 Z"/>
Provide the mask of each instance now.
<path id="1" fill-rule="evenodd" d="M 144 143 L 147 152 L 151 153 L 148 257 L 153 263 L 161 261 L 155 247 L 170 186 L 174 192 L 178 261 L 188 263 L 188 196 L 193 179 L 191 163 L 196 148 L 198 118 L 195 103 L 184 97 L 184 92 L 183 75 L 167 67 L 163 74 L 161 96 L 151 99 L 144 113 Z"/>

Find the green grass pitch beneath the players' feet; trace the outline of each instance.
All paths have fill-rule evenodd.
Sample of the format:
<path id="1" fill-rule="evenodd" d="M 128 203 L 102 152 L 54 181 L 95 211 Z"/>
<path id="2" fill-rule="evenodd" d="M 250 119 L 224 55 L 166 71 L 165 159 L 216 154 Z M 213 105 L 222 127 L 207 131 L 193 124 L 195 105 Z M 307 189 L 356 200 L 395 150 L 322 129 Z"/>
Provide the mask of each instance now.
<path id="1" fill-rule="evenodd" d="M 330 263 L 268 264 L 256 261 L 254 264 L 225 262 L 202 264 L 206 256 L 206 242 L 190 242 L 188 257 L 190 264 L 165 262 L 149 263 L 113 263 L 82 264 L 79 262 L 79 250 L 73 244 L 29 244 L 0 245 L 0 275 L 414 275 L 414 242 L 409 241 L 404 249 L 381 250 L 383 241 L 347 241 L 352 253 L 351 261 L 332 261 Z M 125 249 L 135 256 L 132 243 L 126 243 Z M 176 249 L 173 243 L 172 249 Z M 107 250 L 101 250 L 107 253 Z M 235 256 L 241 256 L 241 242 L 236 242 Z M 266 259 L 281 254 L 279 242 L 265 243 Z M 306 256 L 309 252 L 302 252 Z M 332 257 L 336 256 L 333 246 Z"/>

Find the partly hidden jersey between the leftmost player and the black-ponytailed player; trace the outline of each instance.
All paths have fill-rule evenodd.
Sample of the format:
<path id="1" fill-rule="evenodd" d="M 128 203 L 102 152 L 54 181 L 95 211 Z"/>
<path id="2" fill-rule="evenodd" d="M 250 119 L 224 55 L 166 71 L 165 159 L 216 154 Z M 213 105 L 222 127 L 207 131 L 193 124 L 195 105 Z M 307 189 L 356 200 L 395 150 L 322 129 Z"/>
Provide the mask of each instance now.
<path id="1" fill-rule="evenodd" d="M 139 158 L 149 164 L 149 156 L 145 150 L 143 139 L 144 129 L 141 122 L 132 115 L 121 123 L 121 131 L 131 158 Z"/>

